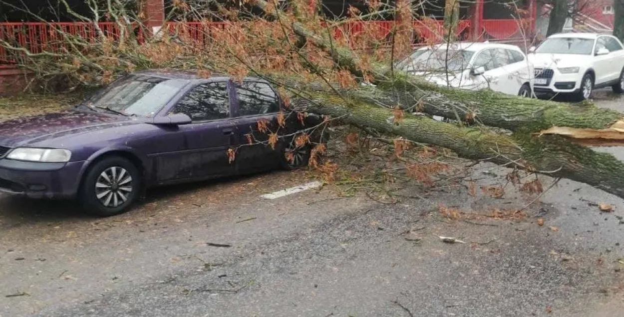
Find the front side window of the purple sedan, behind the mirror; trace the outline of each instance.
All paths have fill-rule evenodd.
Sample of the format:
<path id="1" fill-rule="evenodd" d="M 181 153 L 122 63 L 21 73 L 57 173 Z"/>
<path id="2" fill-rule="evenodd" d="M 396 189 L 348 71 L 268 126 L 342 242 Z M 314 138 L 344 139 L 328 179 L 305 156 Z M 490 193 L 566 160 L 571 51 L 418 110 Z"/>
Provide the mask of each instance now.
<path id="1" fill-rule="evenodd" d="M 230 116 L 230 97 L 226 82 L 208 82 L 188 92 L 171 112 L 185 114 L 193 122 L 225 119 Z"/>

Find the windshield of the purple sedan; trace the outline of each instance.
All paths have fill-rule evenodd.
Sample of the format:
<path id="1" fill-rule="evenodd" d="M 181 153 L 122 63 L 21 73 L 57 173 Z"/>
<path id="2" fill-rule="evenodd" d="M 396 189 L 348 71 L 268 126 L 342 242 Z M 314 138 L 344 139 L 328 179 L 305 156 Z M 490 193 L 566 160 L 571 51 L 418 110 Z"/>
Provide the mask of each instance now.
<path id="1" fill-rule="evenodd" d="M 129 75 L 95 94 L 86 104 L 122 115 L 153 117 L 186 83 L 178 79 Z"/>

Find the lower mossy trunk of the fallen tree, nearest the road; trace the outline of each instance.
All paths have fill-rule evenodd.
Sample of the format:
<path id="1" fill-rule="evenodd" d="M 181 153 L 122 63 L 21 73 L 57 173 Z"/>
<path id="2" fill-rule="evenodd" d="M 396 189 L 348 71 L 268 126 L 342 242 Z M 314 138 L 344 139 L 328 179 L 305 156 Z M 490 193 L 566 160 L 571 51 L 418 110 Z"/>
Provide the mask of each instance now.
<path id="1" fill-rule="evenodd" d="M 572 144 L 558 135 L 531 137 L 520 132 L 497 134 L 487 129 L 459 127 L 409 114 L 400 122 L 392 122 L 392 109 L 324 92 L 311 94 L 310 98 L 293 99 L 293 107 L 340 117 L 345 124 L 356 127 L 445 147 L 462 158 L 488 160 L 553 177 L 569 178 L 624 197 L 623 162 L 610 154 Z"/>

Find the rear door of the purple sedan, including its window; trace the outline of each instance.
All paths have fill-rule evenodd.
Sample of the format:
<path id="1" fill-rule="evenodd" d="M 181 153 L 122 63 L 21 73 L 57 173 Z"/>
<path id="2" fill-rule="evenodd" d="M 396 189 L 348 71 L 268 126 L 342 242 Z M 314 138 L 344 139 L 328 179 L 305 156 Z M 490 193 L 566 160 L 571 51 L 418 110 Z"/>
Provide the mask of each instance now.
<path id="1" fill-rule="evenodd" d="M 275 90 L 267 82 L 253 79 L 233 86 L 236 92 L 233 116 L 240 143 L 236 151 L 236 172 L 248 173 L 278 165 L 279 147 L 273 144 L 273 149 L 269 135 L 284 135 L 291 127 L 286 124 L 280 127 L 280 100 Z"/>

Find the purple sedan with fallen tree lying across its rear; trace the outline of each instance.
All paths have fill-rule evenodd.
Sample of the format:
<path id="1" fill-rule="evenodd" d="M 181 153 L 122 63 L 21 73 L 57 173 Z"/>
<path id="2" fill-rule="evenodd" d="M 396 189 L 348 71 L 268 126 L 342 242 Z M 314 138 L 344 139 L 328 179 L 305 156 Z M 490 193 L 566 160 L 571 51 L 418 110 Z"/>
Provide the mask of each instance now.
<path id="1" fill-rule="evenodd" d="M 283 112 L 280 127 L 285 107 L 261 79 L 130 74 L 69 111 L 2 122 L 0 191 L 78 198 L 85 212 L 110 216 L 148 187 L 304 167 L 313 144 L 325 141 L 314 129 L 323 119 Z M 281 136 L 275 149 L 264 125 Z M 296 147 L 302 131 L 311 142 Z"/>

